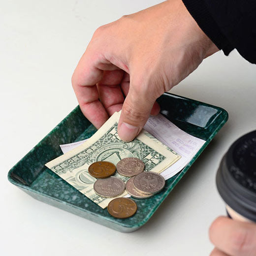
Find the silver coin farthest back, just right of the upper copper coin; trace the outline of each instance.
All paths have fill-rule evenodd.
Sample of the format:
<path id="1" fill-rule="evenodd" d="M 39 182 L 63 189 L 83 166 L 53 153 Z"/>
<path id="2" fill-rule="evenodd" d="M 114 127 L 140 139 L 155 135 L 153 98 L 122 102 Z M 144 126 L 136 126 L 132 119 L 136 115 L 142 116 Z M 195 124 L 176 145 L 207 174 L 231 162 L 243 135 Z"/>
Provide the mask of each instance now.
<path id="1" fill-rule="evenodd" d="M 138 158 L 124 158 L 117 163 L 117 171 L 126 177 L 132 177 L 143 172 L 144 167 L 144 162 Z"/>

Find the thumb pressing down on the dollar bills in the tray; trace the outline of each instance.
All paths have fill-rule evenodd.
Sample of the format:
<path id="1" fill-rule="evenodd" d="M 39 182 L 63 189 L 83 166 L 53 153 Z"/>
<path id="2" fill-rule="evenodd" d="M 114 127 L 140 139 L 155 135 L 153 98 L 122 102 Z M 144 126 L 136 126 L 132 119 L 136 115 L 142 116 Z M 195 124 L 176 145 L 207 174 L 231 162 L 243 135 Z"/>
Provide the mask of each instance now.
<path id="1" fill-rule="evenodd" d="M 146 124 L 156 98 L 147 90 L 130 85 L 118 124 L 118 135 L 124 141 L 133 140 Z"/>

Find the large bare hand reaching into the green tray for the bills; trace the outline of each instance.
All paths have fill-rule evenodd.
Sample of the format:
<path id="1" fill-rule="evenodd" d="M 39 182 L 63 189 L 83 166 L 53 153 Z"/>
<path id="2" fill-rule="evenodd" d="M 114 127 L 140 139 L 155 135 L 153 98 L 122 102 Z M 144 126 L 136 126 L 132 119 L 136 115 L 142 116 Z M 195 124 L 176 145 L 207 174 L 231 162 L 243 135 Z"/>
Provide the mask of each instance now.
<path id="1" fill-rule="evenodd" d="M 118 133 L 130 141 L 159 113 L 156 99 L 218 50 L 181 0 L 165 1 L 98 28 L 73 89 L 96 128 L 122 109 Z"/>

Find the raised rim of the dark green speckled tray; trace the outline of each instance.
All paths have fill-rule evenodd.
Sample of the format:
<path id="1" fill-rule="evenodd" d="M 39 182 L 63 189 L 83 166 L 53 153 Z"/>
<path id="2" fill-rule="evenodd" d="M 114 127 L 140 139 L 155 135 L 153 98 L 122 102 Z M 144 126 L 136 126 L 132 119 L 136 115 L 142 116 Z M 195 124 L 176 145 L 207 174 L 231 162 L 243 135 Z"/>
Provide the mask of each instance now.
<path id="1" fill-rule="evenodd" d="M 218 133 L 218 131 L 224 126 L 224 124 L 226 123 L 226 121 L 228 120 L 228 113 L 227 111 L 222 108 L 222 107 L 219 107 L 219 106 L 215 106 L 215 105 L 211 105 L 211 104 L 208 104 L 208 103 L 205 103 L 205 102 L 202 102 L 202 101 L 199 101 L 199 100 L 196 100 L 196 99 L 192 99 L 192 98 L 188 98 L 188 97 L 184 97 L 184 96 L 179 96 L 179 95 L 175 95 L 175 94 L 172 94 L 172 93 L 164 93 L 163 95 L 171 95 L 171 96 L 174 96 L 176 98 L 181 98 L 181 99 L 187 99 L 187 100 L 192 100 L 192 101 L 195 101 L 195 102 L 198 102 L 200 104 L 203 104 L 205 106 L 209 106 L 209 107 L 213 107 L 215 109 L 218 109 L 220 111 L 222 111 L 224 113 L 224 118 L 222 120 L 222 122 L 219 124 L 219 126 L 217 128 L 215 128 L 215 130 L 211 133 L 211 135 L 209 136 L 209 138 L 205 141 L 204 145 L 200 148 L 200 150 L 195 154 L 195 156 L 192 158 L 192 160 L 183 168 L 182 171 L 179 172 L 179 175 L 176 177 L 176 179 L 172 182 L 172 186 L 170 186 L 162 195 L 161 197 L 161 200 L 159 200 L 159 202 L 156 203 L 155 207 L 153 207 L 150 211 L 150 213 L 148 215 L 145 216 L 145 218 L 143 220 L 141 220 L 139 223 L 136 223 L 134 225 L 131 225 L 131 224 L 126 224 L 126 223 L 116 223 L 114 220 L 112 219 L 107 219 L 106 221 L 107 222 L 111 222 L 115 225 L 118 225 L 118 226 L 122 226 L 122 227 L 127 227 L 127 228 L 132 228 L 133 230 L 131 231 L 134 231 L 136 229 L 138 229 L 139 227 L 143 226 L 144 224 L 146 224 L 150 218 L 153 216 L 153 214 L 156 212 L 156 210 L 160 207 L 161 203 L 163 202 L 163 200 L 167 197 L 167 195 L 173 190 L 173 188 L 177 185 L 177 183 L 180 181 L 180 179 L 185 175 L 185 173 L 188 171 L 188 169 L 191 167 L 191 165 L 194 163 L 194 161 L 201 155 L 201 153 L 204 151 L 204 149 L 209 145 L 209 143 L 212 141 L 212 139 L 215 137 L 215 135 Z M 8 175 L 7 175 L 7 178 L 9 180 L 10 183 L 12 183 L 13 185 L 21 188 L 22 190 L 27 190 L 29 192 L 32 192 L 34 194 L 38 194 L 40 196 L 43 196 L 43 197 L 46 197 L 46 198 L 49 198 L 51 200 L 54 200 L 54 201 L 57 201 L 59 203 L 63 203 L 65 205 L 68 205 L 69 207 L 71 208 L 76 208 L 76 209 L 79 209 L 80 211 L 83 211 L 83 212 L 87 212 L 88 214 L 90 215 L 96 215 L 98 216 L 98 214 L 94 214 L 93 212 L 91 211 L 88 211 L 84 208 L 81 208 L 79 206 L 76 206 L 76 205 L 73 205 L 71 203 L 68 203 L 68 202 L 64 202 L 62 200 L 60 200 L 59 198 L 56 198 L 56 197 L 53 197 L 53 196 L 50 196 L 48 194 L 45 194 L 45 193 L 42 193 L 42 192 L 38 192 L 38 191 L 35 191 L 33 189 L 31 189 L 31 187 L 29 186 L 26 186 L 25 184 L 21 184 L 19 183 L 18 181 L 15 181 L 12 177 L 11 177 L 11 173 L 13 171 L 13 169 L 17 166 L 17 164 L 22 161 L 28 154 L 30 154 L 32 151 L 35 150 L 35 148 L 39 147 L 38 144 L 40 144 L 41 142 L 43 142 L 44 140 L 46 140 L 55 130 L 55 128 L 59 127 L 61 124 L 63 124 L 66 120 L 67 117 L 69 117 L 70 115 L 73 114 L 73 112 L 77 111 L 77 108 L 79 108 L 79 105 L 77 105 L 66 117 L 64 117 L 64 119 L 58 124 L 56 125 L 46 136 L 44 136 L 21 160 L 19 160 L 9 171 L 8 171 Z M 47 203 L 47 202 L 46 202 Z M 77 215 L 77 214 L 76 214 Z M 100 217 L 100 216 L 98 216 Z M 104 217 L 102 217 L 104 218 Z"/>

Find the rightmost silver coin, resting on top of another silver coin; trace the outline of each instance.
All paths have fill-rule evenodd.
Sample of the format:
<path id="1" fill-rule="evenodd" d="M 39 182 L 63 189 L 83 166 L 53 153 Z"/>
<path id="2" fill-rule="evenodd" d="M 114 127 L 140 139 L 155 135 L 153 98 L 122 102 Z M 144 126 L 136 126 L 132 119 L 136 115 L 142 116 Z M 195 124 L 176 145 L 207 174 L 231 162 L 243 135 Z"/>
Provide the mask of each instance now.
<path id="1" fill-rule="evenodd" d="M 164 178 L 156 172 L 142 172 L 134 177 L 134 187 L 141 193 L 158 193 L 165 185 Z"/>

